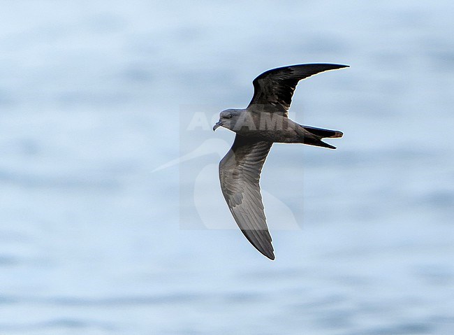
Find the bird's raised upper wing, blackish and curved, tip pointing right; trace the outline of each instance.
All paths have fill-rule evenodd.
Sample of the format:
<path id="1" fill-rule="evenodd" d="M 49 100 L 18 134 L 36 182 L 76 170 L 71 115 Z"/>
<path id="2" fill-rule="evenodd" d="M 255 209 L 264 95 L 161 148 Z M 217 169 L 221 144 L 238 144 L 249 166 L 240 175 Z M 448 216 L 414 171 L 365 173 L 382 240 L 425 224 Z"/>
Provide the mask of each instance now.
<path id="1" fill-rule="evenodd" d="M 281 113 L 288 117 L 288 108 L 298 81 L 328 70 L 342 69 L 348 65 L 340 64 L 301 64 L 268 70 L 254 79 L 254 97 L 249 107 L 266 106 L 268 113 Z M 269 106 L 271 105 L 271 106 Z"/>

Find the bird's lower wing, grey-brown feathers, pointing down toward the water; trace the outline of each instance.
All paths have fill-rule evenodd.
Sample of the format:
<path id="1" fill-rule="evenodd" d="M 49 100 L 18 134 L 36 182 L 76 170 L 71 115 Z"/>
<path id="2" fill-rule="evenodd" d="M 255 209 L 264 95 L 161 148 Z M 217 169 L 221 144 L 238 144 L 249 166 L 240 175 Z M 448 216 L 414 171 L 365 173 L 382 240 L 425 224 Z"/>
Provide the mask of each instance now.
<path id="1" fill-rule="evenodd" d="M 274 259 L 260 193 L 260 173 L 272 142 L 237 135 L 219 163 L 221 190 L 244 236 L 263 255 Z"/>

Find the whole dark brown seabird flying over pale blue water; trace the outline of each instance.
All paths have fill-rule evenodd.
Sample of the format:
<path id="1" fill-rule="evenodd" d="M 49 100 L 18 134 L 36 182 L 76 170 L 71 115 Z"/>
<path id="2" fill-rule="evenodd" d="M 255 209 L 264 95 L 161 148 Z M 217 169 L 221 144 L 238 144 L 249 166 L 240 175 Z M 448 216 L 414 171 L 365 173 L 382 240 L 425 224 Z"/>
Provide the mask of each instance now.
<path id="1" fill-rule="evenodd" d="M 232 148 L 219 163 L 221 190 L 242 233 L 263 255 L 274 259 L 260 192 L 260 174 L 272 143 L 303 143 L 335 149 L 321 141 L 342 137 L 342 131 L 308 127 L 288 118 L 298 82 L 340 64 L 300 64 L 265 71 L 254 79 L 254 96 L 245 109 L 226 109 L 218 127 L 236 133 Z"/>

